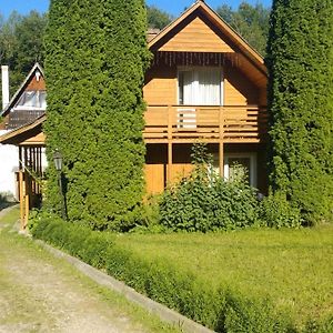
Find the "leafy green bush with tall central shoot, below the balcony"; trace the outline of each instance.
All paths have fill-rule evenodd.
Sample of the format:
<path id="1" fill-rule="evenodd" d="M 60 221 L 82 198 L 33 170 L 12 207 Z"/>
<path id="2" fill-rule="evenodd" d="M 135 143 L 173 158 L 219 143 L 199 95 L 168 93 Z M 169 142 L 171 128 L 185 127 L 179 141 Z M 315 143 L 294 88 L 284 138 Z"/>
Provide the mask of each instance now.
<path id="1" fill-rule="evenodd" d="M 205 145 L 194 144 L 194 171 L 167 189 L 160 223 L 173 231 L 233 230 L 258 221 L 256 193 L 243 176 L 225 181 L 214 174 Z"/>

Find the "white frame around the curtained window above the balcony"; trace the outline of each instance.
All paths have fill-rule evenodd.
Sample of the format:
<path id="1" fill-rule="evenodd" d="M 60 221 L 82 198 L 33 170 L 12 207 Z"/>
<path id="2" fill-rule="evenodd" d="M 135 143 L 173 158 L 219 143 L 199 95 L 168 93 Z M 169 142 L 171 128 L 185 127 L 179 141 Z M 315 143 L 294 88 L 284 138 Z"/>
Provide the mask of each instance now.
<path id="1" fill-rule="evenodd" d="M 196 103 L 192 103 L 192 104 L 180 104 L 180 72 L 195 72 L 198 73 L 199 71 L 213 71 L 216 70 L 220 72 L 220 104 L 216 105 L 206 105 L 206 107 L 223 107 L 224 105 L 224 72 L 223 72 L 223 68 L 222 67 L 199 67 L 199 65 L 193 65 L 193 67 L 178 67 L 176 69 L 176 101 L 175 104 L 176 105 L 198 105 Z M 196 74 L 196 80 L 193 80 L 194 82 L 194 89 L 196 90 L 196 93 L 199 94 L 199 79 L 198 79 L 198 74 Z"/>

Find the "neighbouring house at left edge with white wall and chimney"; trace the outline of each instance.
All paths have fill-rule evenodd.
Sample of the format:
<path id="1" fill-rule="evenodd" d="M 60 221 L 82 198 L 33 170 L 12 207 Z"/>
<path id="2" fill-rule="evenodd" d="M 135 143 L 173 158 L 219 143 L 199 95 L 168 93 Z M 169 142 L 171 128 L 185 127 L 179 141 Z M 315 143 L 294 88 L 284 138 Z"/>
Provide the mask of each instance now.
<path id="1" fill-rule="evenodd" d="M 46 81 L 42 68 L 36 63 L 9 101 L 8 67 L 1 69 L 3 111 L 1 112 L 0 135 L 6 135 L 44 114 L 47 107 Z M 19 199 L 18 157 L 18 147 L 0 144 L 0 193 L 13 195 L 16 199 Z M 22 160 L 22 155 L 20 160 Z"/>

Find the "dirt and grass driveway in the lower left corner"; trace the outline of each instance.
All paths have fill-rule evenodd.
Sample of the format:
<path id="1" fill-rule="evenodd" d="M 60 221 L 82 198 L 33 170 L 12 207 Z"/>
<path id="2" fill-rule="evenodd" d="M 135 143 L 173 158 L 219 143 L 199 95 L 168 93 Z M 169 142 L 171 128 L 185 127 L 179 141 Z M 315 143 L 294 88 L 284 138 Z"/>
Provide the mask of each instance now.
<path id="1" fill-rule="evenodd" d="M 151 332 L 127 306 L 2 224 L 0 332 Z"/>

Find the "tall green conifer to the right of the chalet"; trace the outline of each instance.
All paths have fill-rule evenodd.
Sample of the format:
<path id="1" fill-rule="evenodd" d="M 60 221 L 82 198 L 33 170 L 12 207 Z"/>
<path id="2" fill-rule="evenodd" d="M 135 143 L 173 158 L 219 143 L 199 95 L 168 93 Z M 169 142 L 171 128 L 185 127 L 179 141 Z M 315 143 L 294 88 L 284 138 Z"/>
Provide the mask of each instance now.
<path id="1" fill-rule="evenodd" d="M 313 223 L 333 212 L 333 2 L 274 0 L 271 181 Z"/>

